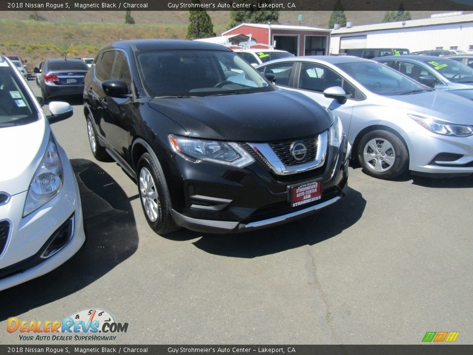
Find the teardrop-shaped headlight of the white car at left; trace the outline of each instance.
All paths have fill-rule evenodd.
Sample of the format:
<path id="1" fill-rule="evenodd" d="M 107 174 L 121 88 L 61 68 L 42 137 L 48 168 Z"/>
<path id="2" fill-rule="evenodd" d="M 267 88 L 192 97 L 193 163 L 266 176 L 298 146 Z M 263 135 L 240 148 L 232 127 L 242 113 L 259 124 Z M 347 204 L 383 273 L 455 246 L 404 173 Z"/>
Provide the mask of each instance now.
<path id="1" fill-rule="evenodd" d="M 56 196 L 63 186 L 64 174 L 58 148 L 52 136 L 28 189 L 23 217 L 36 211 Z"/>

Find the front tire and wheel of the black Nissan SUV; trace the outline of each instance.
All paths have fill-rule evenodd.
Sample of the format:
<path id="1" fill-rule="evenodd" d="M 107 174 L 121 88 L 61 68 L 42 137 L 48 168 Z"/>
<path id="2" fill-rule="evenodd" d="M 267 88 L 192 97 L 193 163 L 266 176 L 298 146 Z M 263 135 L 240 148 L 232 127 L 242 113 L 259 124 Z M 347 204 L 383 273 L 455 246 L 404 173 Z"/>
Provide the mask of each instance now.
<path id="1" fill-rule="evenodd" d="M 160 235 L 179 229 L 171 216 L 166 180 L 150 154 L 139 158 L 136 173 L 139 200 L 149 226 Z"/>

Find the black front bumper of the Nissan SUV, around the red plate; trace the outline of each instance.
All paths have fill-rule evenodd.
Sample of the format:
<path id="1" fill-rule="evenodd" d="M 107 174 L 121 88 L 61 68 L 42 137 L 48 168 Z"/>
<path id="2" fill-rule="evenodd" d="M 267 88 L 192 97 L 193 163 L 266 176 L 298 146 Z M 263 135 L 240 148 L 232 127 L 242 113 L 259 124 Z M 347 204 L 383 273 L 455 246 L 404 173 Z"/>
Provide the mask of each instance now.
<path id="1" fill-rule="evenodd" d="M 321 168 L 276 176 L 260 162 L 243 169 L 193 163 L 175 156 L 179 174 L 168 182 L 172 217 L 177 225 L 203 233 L 238 233 L 279 225 L 325 208 L 344 195 L 351 145 L 329 150 Z M 289 187 L 322 182 L 317 201 L 292 207 Z"/>

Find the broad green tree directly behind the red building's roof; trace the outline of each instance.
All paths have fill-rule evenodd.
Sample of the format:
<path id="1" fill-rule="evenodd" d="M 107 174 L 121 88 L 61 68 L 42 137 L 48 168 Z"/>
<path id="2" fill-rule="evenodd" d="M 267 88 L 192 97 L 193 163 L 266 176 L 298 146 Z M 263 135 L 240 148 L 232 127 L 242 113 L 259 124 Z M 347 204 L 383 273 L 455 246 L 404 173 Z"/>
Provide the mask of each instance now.
<path id="1" fill-rule="evenodd" d="M 242 23 L 260 23 L 267 24 L 279 22 L 279 11 L 276 10 L 260 10 L 263 6 L 258 4 L 270 4 L 271 0 L 240 0 L 240 2 L 257 5 L 250 6 L 250 10 L 232 10 L 230 11 L 229 28 L 238 26 Z"/>

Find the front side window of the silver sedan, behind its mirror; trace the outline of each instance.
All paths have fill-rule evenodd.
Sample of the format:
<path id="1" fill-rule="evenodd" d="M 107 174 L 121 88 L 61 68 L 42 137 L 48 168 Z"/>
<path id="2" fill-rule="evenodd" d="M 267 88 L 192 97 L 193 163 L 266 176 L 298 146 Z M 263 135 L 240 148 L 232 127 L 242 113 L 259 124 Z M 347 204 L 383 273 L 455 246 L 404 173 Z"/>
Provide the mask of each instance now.
<path id="1" fill-rule="evenodd" d="M 335 71 L 316 63 L 302 64 L 299 88 L 323 92 L 332 86 L 342 86 L 342 78 Z"/>

